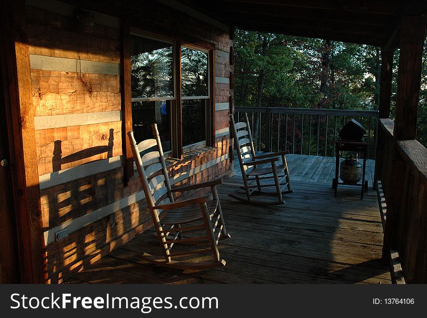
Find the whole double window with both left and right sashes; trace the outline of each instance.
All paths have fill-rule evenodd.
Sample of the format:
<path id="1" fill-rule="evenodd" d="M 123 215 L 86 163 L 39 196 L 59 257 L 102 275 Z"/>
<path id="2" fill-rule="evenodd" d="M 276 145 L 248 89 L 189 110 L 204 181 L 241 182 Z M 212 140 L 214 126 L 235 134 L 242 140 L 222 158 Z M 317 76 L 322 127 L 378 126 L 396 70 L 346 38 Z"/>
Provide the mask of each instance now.
<path id="1" fill-rule="evenodd" d="M 212 54 L 210 48 L 131 34 L 132 130 L 137 142 L 152 138 L 152 123 L 157 123 L 164 152 L 176 157 L 213 142 Z"/>

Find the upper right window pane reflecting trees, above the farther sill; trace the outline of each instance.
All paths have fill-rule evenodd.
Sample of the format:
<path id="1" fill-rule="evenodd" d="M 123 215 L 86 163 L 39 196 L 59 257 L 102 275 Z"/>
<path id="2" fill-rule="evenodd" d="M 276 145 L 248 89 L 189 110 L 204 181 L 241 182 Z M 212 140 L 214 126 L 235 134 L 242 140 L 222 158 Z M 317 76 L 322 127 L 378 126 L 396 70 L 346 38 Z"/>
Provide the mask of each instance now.
<path id="1" fill-rule="evenodd" d="M 208 96 L 208 53 L 181 48 L 182 96 Z"/>

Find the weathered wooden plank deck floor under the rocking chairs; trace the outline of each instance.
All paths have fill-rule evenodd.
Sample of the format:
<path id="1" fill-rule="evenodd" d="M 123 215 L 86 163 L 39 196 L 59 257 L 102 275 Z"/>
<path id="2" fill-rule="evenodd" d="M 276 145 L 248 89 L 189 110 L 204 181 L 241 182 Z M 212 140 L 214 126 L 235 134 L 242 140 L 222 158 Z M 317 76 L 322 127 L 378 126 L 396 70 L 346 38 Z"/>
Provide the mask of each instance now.
<path id="1" fill-rule="evenodd" d="M 220 243 L 225 267 L 183 271 L 149 265 L 139 255 L 160 249 L 147 231 L 66 283 L 390 284 L 388 267 L 379 261 L 382 228 L 372 187 L 361 200 L 359 187 L 343 185 L 335 198 L 328 158 L 290 155 L 288 164 L 295 192 L 285 205 L 233 200 L 228 194 L 242 191 L 238 175 L 219 186 L 231 234 Z"/>

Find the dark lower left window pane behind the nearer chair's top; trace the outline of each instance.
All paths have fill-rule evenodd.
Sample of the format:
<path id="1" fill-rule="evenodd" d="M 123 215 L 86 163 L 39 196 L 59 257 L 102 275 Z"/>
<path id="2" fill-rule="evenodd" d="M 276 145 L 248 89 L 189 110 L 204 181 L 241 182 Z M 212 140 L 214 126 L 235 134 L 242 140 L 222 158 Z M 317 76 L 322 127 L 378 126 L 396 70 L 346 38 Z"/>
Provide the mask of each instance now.
<path id="1" fill-rule="evenodd" d="M 132 102 L 132 129 L 136 142 L 153 138 L 151 124 L 156 123 L 163 151 L 171 151 L 171 103 L 170 100 Z"/>

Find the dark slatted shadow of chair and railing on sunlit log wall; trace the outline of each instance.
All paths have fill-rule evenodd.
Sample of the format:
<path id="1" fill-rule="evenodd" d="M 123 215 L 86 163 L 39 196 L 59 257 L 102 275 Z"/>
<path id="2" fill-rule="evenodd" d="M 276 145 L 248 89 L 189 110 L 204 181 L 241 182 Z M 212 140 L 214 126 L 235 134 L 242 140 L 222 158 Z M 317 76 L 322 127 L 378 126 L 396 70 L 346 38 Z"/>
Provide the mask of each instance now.
<path id="1" fill-rule="evenodd" d="M 77 163 L 102 153 L 107 153 L 107 158 L 112 158 L 114 129 L 110 129 L 109 133 L 108 145 L 91 147 L 65 157 L 62 157 L 62 141 L 56 140 L 52 158 L 54 173 L 60 173 L 61 167 L 66 164 Z M 82 166 L 84 165 L 76 167 Z M 64 174 L 72 175 L 73 170 L 74 168 L 67 169 Z M 48 283 L 61 283 L 70 272 L 78 271 L 98 260 L 101 255 L 110 251 L 111 244 L 120 244 L 116 241 L 117 238 L 120 240 L 126 231 L 146 219 L 143 202 L 133 203 L 108 216 L 99 216 L 99 209 L 123 198 L 127 192 L 134 191 L 132 184 L 126 189 L 123 189 L 122 184 L 121 165 L 46 188 L 41 184 L 43 231 L 57 232 L 59 230 L 55 227 L 59 225 L 70 229 L 70 222 L 75 223 L 73 226 L 76 229 L 68 232 L 61 240 L 47 242 L 44 261 L 47 264 Z"/>

